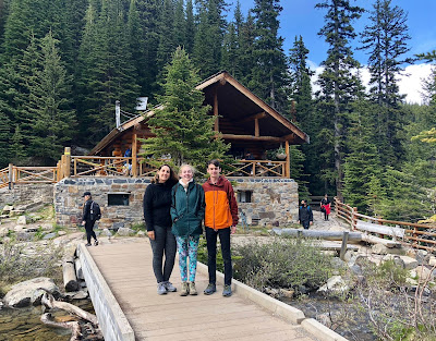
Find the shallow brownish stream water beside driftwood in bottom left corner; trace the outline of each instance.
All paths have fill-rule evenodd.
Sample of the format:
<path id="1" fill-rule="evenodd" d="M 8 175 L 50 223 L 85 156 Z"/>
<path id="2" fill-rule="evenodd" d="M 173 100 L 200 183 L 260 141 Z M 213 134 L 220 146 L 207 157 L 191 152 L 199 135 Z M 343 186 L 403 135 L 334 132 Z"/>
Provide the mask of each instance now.
<path id="1" fill-rule="evenodd" d="M 77 301 L 78 302 L 78 301 Z M 89 301 L 74 302 L 81 308 L 94 313 Z M 43 306 L 0 309 L 0 341 L 69 341 L 71 332 L 63 328 L 46 326 L 40 321 Z M 64 310 L 52 317 L 70 316 Z"/>

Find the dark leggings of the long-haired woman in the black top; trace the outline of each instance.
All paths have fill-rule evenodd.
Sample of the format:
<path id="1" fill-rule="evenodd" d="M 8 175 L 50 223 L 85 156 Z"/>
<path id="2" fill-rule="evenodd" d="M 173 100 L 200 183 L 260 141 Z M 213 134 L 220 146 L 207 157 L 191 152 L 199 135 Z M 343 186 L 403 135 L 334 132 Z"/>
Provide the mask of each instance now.
<path id="1" fill-rule="evenodd" d="M 155 272 L 156 280 L 158 283 L 167 282 L 174 267 L 177 251 L 175 238 L 171 232 L 171 228 L 155 226 L 155 240 L 150 240 L 150 244 L 153 249 L 153 271 Z"/>

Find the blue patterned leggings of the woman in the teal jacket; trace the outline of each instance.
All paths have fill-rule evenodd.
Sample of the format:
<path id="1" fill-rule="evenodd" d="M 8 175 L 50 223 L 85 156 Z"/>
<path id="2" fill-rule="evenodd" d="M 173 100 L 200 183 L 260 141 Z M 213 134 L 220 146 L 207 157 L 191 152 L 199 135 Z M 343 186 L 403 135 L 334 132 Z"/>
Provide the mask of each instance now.
<path id="1" fill-rule="evenodd" d="M 199 235 L 175 236 L 179 249 L 179 268 L 182 282 L 187 281 L 187 257 L 190 257 L 190 282 L 195 282 Z"/>

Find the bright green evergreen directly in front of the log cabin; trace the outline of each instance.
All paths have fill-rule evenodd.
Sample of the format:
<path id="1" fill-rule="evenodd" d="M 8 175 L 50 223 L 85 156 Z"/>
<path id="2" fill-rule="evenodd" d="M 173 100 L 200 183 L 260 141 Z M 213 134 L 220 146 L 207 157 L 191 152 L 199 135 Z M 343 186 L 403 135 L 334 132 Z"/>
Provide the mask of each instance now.
<path id="1" fill-rule="evenodd" d="M 159 96 L 164 108 L 147 120 L 156 137 L 143 141 L 144 156 L 170 155 L 177 166 L 189 162 L 204 171 L 205 160 L 222 158 L 229 146 L 214 138 L 215 119 L 207 114 L 210 108 L 203 106 L 203 93 L 195 89 L 199 77 L 182 48 L 165 71 L 164 95 Z"/>

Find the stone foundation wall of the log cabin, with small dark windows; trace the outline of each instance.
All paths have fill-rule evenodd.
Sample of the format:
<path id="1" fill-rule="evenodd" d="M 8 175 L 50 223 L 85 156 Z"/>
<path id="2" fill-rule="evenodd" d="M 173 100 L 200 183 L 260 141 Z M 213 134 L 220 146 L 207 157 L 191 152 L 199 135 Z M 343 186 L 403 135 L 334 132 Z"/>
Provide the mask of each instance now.
<path id="1" fill-rule="evenodd" d="M 251 203 L 238 203 L 249 224 L 287 226 L 298 220 L 298 184 L 292 179 L 230 178 L 239 191 L 252 192 Z M 100 228 L 143 222 L 143 196 L 149 178 L 64 179 L 55 185 L 56 220 L 61 226 L 81 222 L 82 194 L 89 191 L 101 208 Z M 108 194 L 129 194 L 129 206 L 108 206 Z"/>

